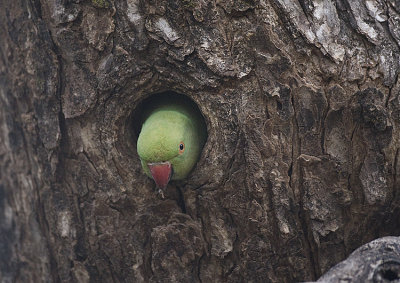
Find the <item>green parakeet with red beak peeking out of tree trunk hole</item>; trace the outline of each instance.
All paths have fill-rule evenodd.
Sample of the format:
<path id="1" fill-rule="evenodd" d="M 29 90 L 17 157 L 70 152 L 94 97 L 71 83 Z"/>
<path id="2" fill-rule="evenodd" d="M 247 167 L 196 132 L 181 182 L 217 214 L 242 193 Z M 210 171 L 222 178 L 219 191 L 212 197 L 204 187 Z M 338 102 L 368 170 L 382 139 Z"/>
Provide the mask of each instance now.
<path id="1" fill-rule="evenodd" d="M 207 138 L 197 107 L 173 99 L 156 103 L 144 117 L 137 152 L 144 172 L 159 190 L 170 180 L 187 177 L 199 159 Z"/>

